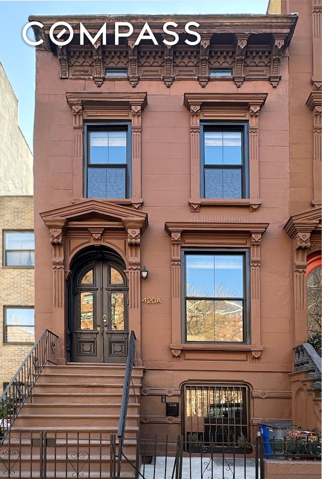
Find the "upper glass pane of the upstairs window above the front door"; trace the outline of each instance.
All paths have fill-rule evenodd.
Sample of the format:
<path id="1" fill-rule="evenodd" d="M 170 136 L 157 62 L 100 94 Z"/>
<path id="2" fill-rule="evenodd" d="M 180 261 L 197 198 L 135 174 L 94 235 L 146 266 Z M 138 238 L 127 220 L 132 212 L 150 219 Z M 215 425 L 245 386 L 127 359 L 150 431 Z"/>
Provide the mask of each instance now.
<path id="1" fill-rule="evenodd" d="M 91 131 L 90 163 L 126 163 L 126 131 Z"/>

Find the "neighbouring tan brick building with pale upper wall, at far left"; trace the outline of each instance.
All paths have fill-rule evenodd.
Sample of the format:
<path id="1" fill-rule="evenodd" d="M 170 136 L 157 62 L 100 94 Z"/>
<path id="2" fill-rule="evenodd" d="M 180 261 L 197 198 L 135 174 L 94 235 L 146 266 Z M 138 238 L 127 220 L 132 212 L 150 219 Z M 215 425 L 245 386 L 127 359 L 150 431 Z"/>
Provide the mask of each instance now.
<path id="1" fill-rule="evenodd" d="M 18 100 L 0 63 L 0 384 L 34 343 L 32 153 L 18 126 Z"/>

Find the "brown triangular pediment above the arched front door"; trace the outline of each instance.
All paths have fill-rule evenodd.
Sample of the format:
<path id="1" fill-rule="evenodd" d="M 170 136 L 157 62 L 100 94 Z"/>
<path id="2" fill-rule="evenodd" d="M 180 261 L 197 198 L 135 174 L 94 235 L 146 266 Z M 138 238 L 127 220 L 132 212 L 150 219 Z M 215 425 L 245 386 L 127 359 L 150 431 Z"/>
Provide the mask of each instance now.
<path id="1" fill-rule="evenodd" d="M 147 214 L 126 206 L 89 199 L 55 210 L 40 213 L 48 228 L 109 227 L 111 229 L 138 228 L 142 234 L 147 227 Z"/>

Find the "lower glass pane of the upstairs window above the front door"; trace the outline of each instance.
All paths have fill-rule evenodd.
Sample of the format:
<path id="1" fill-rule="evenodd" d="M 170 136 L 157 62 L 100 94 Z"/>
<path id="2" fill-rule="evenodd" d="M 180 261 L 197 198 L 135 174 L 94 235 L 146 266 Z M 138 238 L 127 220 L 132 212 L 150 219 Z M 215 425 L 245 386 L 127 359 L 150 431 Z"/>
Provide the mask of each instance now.
<path id="1" fill-rule="evenodd" d="M 125 167 L 88 168 L 89 198 L 125 198 Z"/>

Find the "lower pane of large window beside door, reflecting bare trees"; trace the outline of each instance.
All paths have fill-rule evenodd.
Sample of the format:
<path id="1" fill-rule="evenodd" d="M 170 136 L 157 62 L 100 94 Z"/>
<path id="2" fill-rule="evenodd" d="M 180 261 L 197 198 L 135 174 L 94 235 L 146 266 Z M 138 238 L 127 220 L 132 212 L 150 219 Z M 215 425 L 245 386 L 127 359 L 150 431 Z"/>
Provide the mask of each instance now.
<path id="1" fill-rule="evenodd" d="M 243 341 L 243 301 L 187 300 L 187 341 Z"/>

